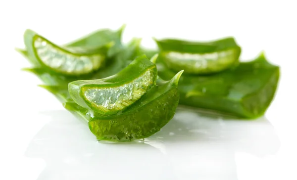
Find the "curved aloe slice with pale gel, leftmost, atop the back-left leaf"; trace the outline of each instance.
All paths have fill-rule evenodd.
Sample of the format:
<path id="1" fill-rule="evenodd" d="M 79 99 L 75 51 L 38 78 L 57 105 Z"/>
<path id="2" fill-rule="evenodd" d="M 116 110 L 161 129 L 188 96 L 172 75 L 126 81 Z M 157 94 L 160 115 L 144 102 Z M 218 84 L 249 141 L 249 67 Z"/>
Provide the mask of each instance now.
<path id="1" fill-rule="evenodd" d="M 25 45 L 35 65 L 41 65 L 64 75 L 84 75 L 104 65 L 109 43 L 100 48 L 61 47 L 32 30 L 24 34 Z"/>

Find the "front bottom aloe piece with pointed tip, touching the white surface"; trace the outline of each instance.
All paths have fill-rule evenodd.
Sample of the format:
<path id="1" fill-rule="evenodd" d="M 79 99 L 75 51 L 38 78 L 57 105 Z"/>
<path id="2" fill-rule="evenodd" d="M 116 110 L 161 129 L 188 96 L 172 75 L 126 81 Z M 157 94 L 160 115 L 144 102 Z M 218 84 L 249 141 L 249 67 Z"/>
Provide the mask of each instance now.
<path id="1" fill-rule="evenodd" d="M 77 117 L 89 120 L 91 132 L 99 140 L 130 141 L 158 132 L 174 116 L 179 101 L 178 81 L 183 71 L 170 81 L 155 86 L 120 115 L 102 116 L 76 103 L 65 103 Z"/>

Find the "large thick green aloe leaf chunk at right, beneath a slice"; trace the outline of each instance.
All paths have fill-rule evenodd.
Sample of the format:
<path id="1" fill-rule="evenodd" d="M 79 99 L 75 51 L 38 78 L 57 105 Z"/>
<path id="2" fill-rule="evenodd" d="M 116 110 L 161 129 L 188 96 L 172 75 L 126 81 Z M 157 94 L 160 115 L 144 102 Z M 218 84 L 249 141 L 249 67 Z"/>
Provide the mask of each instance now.
<path id="1" fill-rule="evenodd" d="M 158 75 L 169 79 L 174 74 L 158 68 Z M 262 116 L 270 105 L 280 69 L 261 54 L 236 69 L 208 76 L 183 75 L 179 83 L 180 104 L 216 110 L 246 119 Z"/>

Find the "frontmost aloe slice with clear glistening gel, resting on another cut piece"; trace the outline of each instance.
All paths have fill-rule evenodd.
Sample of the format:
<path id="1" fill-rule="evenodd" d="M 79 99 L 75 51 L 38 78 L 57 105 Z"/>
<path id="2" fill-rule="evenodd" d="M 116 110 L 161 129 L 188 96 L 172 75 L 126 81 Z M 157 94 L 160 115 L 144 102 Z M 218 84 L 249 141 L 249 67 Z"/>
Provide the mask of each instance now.
<path id="1" fill-rule="evenodd" d="M 152 58 L 153 61 L 155 59 Z M 112 115 L 140 99 L 155 85 L 156 77 L 156 65 L 146 56 L 140 56 L 113 76 L 74 81 L 69 83 L 68 90 L 80 106 L 102 115 Z"/>

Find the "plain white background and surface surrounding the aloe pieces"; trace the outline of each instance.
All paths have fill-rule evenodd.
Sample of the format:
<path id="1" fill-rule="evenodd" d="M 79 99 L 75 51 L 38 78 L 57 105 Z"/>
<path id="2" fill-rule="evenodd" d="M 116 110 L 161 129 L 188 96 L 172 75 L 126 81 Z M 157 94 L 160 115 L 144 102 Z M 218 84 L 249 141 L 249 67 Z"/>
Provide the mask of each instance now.
<path id="1" fill-rule="evenodd" d="M 297 180 L 294 2 L 1 0 L 0 180 Z M 27 28 L 63 44 L 124 23 L 123 41 L 141 37 L 148 47 L 155 46 L 151 37 L 207 41 L 234 36 L 242 46 L 242 60 L 264 50 L 271 63 L 281 66 L 268 121 L 213 123 L 191 113 L 177 114 L 172 121 L 198 129 L 189 130 L 191 135 L 155 135 L 146 144 L 157 152 L 142 145 L 96 143 L 86 126 L 75 124 L 51 94 L 36 86 L 41 84 L 38 78 L 20 71 L 30 64 L 14 47 L 24 47 Z"/>

